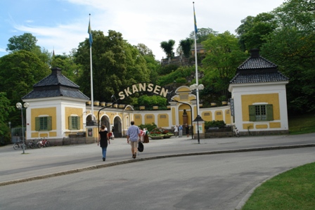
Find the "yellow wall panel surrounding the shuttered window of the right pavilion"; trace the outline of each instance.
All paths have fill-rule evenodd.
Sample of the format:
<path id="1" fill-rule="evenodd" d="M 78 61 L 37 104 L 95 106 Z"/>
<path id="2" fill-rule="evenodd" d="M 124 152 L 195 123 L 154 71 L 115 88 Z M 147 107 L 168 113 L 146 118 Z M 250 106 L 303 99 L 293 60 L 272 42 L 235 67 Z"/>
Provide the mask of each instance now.
<path id="1" fill-rule="evenodd" d="M 273 105 L 274 110 L 274 120 L 280 119 L 280 105 L 278 93 L 268 93 L 268 94 L 252 94 L 241 96 L 242 100 L 242 118 L 243 121 L 250 120 L 249 105 L 253 103 L 268 103 Z"/>

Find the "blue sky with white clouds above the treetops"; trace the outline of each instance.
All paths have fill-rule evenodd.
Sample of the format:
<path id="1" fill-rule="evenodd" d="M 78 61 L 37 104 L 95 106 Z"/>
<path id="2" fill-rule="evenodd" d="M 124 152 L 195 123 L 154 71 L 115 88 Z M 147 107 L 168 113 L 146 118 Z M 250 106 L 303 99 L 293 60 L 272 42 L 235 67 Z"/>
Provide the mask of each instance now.
<path id="1" fill-rule="evenodd" d="M 179 41 L 193 32 L 193 6 L 198 28 L 236 34 L 241 20 L 273 11 L 283 1 L 0 0 L 0 57 L 8 54 L 8 39 L 24 33 L 31 33 L 49 52 L 69 54 L 89 37 L 91 17 L 92 30 L 105 36 L 109 30 L 120 32 L 129 44 L 145 44 L 161 60 L 166 57 L 162 41 L 173 39 L 176 51 Z"/>

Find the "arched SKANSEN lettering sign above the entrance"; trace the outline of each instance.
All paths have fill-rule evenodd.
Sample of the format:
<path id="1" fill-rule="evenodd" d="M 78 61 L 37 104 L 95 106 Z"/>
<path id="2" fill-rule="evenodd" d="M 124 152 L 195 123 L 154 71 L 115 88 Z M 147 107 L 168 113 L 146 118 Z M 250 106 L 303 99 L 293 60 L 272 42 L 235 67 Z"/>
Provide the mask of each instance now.
<path id="1" fill-rule="evenodd" d="M 139 92 L 150 92 L 166 98 L 168 90 L 152 83 L 139 83 L 125 88 L 124 91 L 120 91 L 118 96 L 120 96 L 120 100 L 123 100 L 124 98 Z"/>

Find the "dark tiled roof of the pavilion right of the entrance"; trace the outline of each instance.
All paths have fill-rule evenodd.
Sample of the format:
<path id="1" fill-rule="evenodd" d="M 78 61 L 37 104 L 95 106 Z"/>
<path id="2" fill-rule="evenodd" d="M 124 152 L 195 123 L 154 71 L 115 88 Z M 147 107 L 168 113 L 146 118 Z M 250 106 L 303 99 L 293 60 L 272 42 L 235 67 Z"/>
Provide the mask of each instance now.
<path id="1" fill-rule="evenodd" d="M 288 77 L 278 72 L 278 65 L 260 56 L 259 50 L 252 49 L 250 58 L 237 68 L 236 75 L 231 79 L 230 84 L 288 80 Z"/>

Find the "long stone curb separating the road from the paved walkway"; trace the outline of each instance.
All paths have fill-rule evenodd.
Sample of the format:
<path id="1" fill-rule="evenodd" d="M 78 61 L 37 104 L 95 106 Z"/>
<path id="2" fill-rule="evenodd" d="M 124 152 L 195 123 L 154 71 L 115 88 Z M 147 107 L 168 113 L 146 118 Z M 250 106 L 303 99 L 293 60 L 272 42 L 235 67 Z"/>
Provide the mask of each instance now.
<path id="1" fill-rule="evenodd" d="M 72 173 L 79 173 L 82 171 L 91 171 L 95 169 L 102 169 L 110 166 L 118 166 L 122 164 L 129 164 L 133 162 L 140 162 L 140 161 L 146 161 L 146 160 L 151 160 L 151 159 L 162 159 L 162 158 L 169 158 L 169 157 L 183 157 L 183 156 L 193 156 L 193 155 L 216 155 L 216 154 L 222 154 L 222 153 L 236 153 L 236 152 L 255 152 L 255 151 L 266 151 L 266 150 L 285 150 L 285 149 L 295 149 L 295 148 L 302 148 L 302 147 L 315 147 L 314 144 L 304 144 L 304 145 L 287 145 L 287 146 L 276 146 L 276 147 L 253 147 L 253 148 L 248 148 L 248 149 L 237 149 L 237 150 L 219 150 L 219 151 L 209 151 L 209 152 L 193 152 L 193 153 L 183 153 L 183 154 L 175 154 L 175 155 L 161 155 L 161 156 L 155 156 L 155 157 L 144 157 L 144 158 L 139 158 L 139 159 L 129 159 L 129 160 L 124 160 L 121 162 L 113 162 L 113 163 L 108 163 L 108 164 L 98 164 L 95 166 L 88 166 L 84 168 L 79 168 L 79 169 L 72 169 L 69 171 L 60 171 L 56 173 L 49 173 L 46 175 L 41 175 L 41 176 L 34 176 L 30 178 L 22 178 L 22 179 L 17 179 L 13 181 L 5 181 L 0 183 L 0 186 L 4 185 L 12 185 L 15 183 L 25 183 L 27 181 L 35 181 L 35 180 L 41 180 L 44 178 L 52 178 L 56 176 L 64 176 Z M 255 187 L 257 188 L 258 185 Z M 252 193 L 252 190 L 250 191 Z M 249 193 L 250 193 L 249 192 Z M 245 196 L 247 197 L 247 196 Z M 247 197 L 248 199 L 249 197 Z M 246 200 L 247 200 L 246 199 Z M 243 200 L 241 202 L 245 203 L 246 200 Z"/>

